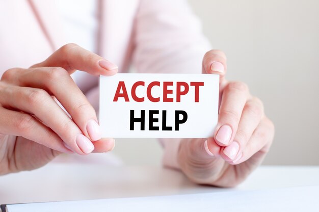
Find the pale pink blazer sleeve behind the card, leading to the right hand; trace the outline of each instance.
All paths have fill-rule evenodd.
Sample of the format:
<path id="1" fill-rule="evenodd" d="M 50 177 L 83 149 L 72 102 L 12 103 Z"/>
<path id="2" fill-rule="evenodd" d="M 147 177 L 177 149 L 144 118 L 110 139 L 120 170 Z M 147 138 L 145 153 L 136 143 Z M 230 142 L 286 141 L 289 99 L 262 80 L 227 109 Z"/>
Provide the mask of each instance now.
<path id="1" fill-rule="evenodd" d="M 142 0 L 136 18 L 133 63 L 141 73 L 201 73 L 211 49 L 186 1 Z M 161 139 L 164 166 L 179 169 L 180 139 Z"/>

